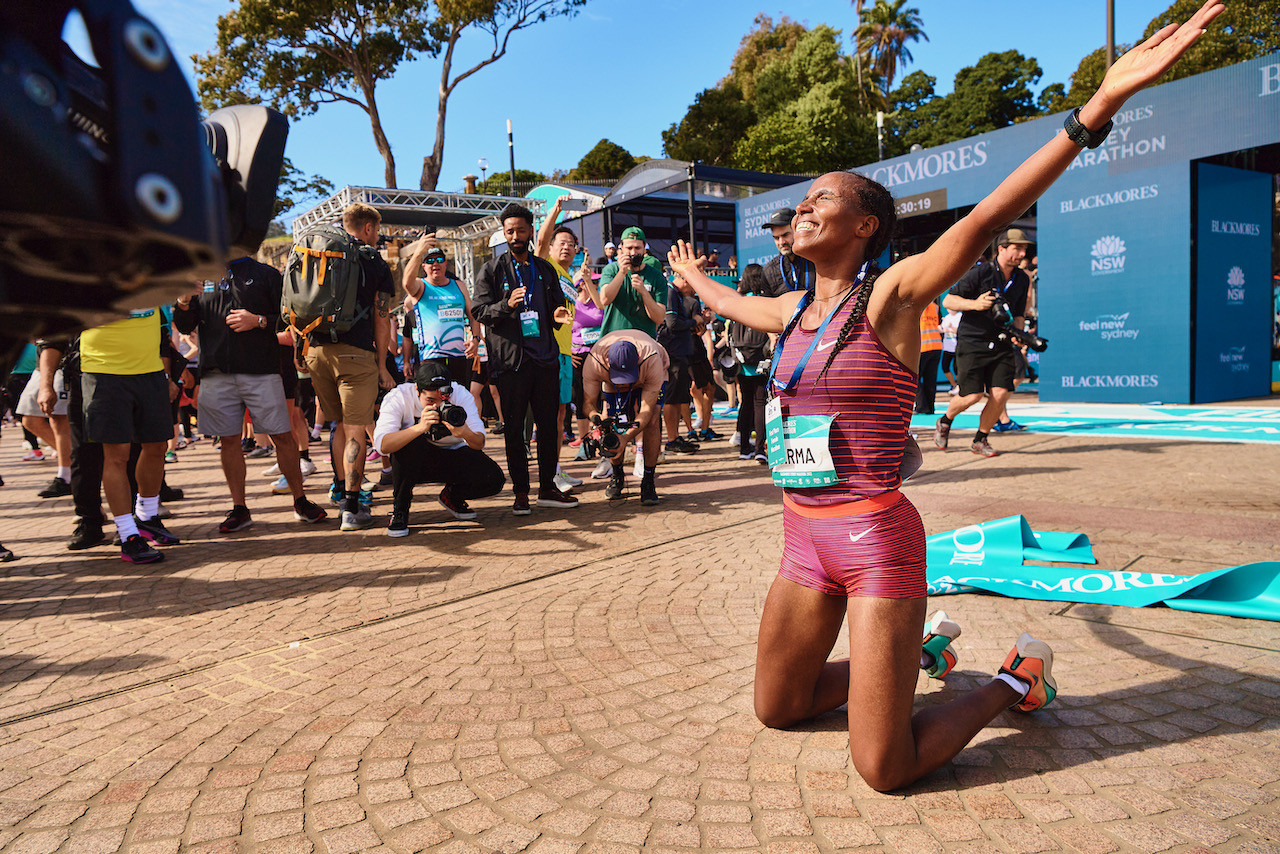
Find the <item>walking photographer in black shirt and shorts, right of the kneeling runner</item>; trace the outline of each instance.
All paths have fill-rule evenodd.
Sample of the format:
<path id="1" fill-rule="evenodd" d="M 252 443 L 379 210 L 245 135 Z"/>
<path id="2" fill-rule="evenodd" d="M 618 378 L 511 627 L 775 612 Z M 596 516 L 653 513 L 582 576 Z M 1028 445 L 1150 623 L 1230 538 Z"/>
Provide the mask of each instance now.
<path id="1" fill-rule="evenodd" d="M 952 420 L 988 394 L 970 451 L 980 457 L 998 453 L 987 437 L 1014 391 L 1018 357 L 1010 332 L 1023 328 L 1030 289 L 1030 279 L 1018 264 L 1027 256 L 1030 245 L 1021 229 L 1010 228 L 1000 236 L 996 260 L 969 268 L 942 300 L 945 309 L 961 312 L 956 330 L 960 394 L 951 398 L 947 414 L 938 419 L 933 430 L 933 443 L 943 451 Z"/>

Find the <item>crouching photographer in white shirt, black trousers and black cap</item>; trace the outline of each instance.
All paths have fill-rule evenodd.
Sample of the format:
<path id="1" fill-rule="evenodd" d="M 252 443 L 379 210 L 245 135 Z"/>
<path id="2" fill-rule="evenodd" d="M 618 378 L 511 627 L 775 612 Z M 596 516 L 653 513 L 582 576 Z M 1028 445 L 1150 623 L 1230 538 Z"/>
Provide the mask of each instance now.
<path id="1" fill-rule="evenodd" d="M 454 519 L 471 520 L 472 498 L 498 494 L 507 483 L 484 452 L 484 423 L 475 398 L 436 359 L 419 365 L 412 383 L 387 393 L 374 428 L 374 447 L 392 460 L 388 536 L 408 535 L 413 487 L 440 483 L 439 502 Z"/>

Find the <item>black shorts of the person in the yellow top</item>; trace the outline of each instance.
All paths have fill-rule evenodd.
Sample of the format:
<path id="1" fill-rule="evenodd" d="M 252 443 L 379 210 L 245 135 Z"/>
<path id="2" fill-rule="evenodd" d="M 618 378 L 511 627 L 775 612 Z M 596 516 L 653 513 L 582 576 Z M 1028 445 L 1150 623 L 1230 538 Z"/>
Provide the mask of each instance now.
<path id="1" fill-rule="evenodd" d="M 173 438 L 169 380 L 154 374 L 82 374 L 84 435 L 102 444 L 168 442 Z"/>

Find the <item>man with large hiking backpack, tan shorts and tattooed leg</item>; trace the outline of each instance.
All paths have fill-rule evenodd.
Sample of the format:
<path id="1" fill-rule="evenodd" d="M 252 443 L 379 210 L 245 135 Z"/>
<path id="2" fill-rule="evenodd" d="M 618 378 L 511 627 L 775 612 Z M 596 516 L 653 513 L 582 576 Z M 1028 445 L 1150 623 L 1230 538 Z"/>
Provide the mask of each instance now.
<path id="1" fill-rule="evenodd" d="M 396 293 L 390 266 L 376 250 L 381 222 L 376 209 L 356 202 L 342 213 L 342 232 L 319 225 L 298 236 L 280 303 L 294 337 L 306 342 L 316 401 L 338 421 L 329 498 L 342 508 L 344 531 L 374 524 L 372 495 L 360 488 L 367 430 L 379 385 L 396 387 L 381 359 Z"/>

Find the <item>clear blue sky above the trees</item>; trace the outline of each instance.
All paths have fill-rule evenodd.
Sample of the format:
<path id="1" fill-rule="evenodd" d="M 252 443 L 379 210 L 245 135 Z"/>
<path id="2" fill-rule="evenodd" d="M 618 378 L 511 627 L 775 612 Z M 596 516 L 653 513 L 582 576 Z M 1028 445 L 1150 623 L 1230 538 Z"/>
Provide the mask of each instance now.
<path id="1" fill-rule="evenodd" d="M 183 58 L 215 44 L 218 15 L 229 0 L 134 0 Z M 988 51 L 1016 49 L 1044 69 L 1041 86 L 1068 82 L 1080 58 L 1106 40 L 1106 0 L 1001 3 L 915 0 L 928 42 L 911 46 L 914 63 L 948 92 L 955 73 Z M 1169 0 L 1116 0 L 1116 38 L 1133 41 Z M 589 0 L 580 14 L 517 33 L 507 55 L 465 81 L 449 100 L 444 169 L 438 188 L 462 188 L 462 177 L 506 170 L 507 119 L 515 127 L 516 166 L 550 174 L 572 168 L 602 137 L 634 155 L 662 156 L 662 131 L 684 117 L 694 96 L 728 72 L 759 13 L 783 12 L 809 26 L 852 29 L 849 0 L 794 0 L 785 10 L 741 0 Z M 460 42 L 454 67 L 483 52 L 484 33 Z M 484 51 L 486 52 L 486 51 Z M 401 67 L 378 90 L 379 109 L 397 160 L 399 187 L 416 188 L 435 131 L 439 63 Z M 369 119 L 346 104 L 320 108 L 293 124 L 288 155 L 302 170 L 337 186 L 383 184 L 383 160 Z"/>

